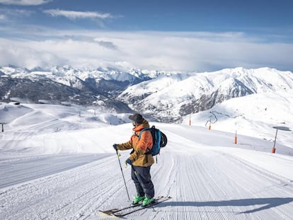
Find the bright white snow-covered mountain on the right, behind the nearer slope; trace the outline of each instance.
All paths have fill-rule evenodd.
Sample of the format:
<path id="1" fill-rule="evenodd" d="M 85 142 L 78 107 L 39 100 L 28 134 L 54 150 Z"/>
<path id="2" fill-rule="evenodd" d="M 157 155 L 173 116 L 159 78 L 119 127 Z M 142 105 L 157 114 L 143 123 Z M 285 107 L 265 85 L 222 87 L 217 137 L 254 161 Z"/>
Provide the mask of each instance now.
<path id="1" fill-rule="evenodd" d="M 293 88 L 293 74 L 270 68 L 222 69 L 186 78 L 161 76 L 123 91 L 118 99 L 157 120 L 180 120 L 230 98 Z"/>

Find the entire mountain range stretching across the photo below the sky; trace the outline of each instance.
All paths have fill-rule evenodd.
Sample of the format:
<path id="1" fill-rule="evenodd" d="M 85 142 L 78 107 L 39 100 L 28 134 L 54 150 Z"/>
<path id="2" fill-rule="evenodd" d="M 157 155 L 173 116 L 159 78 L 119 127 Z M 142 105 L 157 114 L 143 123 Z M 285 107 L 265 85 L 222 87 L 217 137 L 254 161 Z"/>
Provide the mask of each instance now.
<path id="1" fill-rule="evenodd" d="M 105 112 L 141 112 L 159 122 L 182 122 L 186 115 L 224 100 L 291 90 L 293 73 L 268 67 L 179 73 L 2 66 L 0 87 L 2 102 L 96 106 Z"/>

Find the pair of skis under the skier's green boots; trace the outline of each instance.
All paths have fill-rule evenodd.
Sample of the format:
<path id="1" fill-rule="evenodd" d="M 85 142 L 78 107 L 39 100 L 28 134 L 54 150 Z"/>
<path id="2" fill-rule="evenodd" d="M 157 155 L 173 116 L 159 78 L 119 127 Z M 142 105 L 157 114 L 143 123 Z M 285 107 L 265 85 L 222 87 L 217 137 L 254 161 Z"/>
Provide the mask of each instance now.
<path id="1" fill-rule="evenodd" d="M 153 206 L 155 204 L 159 204 L 159 203 L 161 203 L 163 201 L 166 201 L 167 199 L 170 199 L 170 198 L 171 197 L 163 197 L 163 196 L 156 197 L 155 200 L 154 200 L 155 202 L 153 202 L 153 203 L 151 203 L 151 204 L 149 204 L 149 205 L 147 205 L 145 207 L 141 207 L 142 203 L 137 203 L 137 204 L 132 204 L 132 205 L 127 206 L 127 207 L 122 207 L 120 209 L 108 209 L 108 210 L 104 210 L 104 211 L 103 210 L 99 210 L 99 212 L 101 212 L 103 214 L 110 215 L 110 216 L 125 216 L 127 214 L 132 213 L 132 212 L 136 212 L 136 211 L 139 211 L 141 209 L 145 209 L 147 207 L 151 207 L 151 206 Z M 139 207 L 139 209 L 132 210 L 134 207 Z M 127 209 L 131 209 L 131 210 L 128 211 L 128 212 L 122 213 L 122 214 L 118 214 L 118 212 L 122 212 L 122 211 L 125 211 Z"/>

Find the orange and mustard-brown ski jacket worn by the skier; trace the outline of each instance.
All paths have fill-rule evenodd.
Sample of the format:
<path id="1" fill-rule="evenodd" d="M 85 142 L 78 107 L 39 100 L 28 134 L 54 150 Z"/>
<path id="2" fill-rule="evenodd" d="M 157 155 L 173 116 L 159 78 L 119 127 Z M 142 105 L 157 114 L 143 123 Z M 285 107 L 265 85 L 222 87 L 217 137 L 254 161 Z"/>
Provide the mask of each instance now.
<path id="1" fill-rule="evenodd" d="M 154 163 L 153 156 L 151 154 L 145 154 L 153 146 L 151 132 L 148 130 L 142 132 L 139 139 L 140 131 L 146 127 L 149 128 L 149 122 L 144 120 L 142 124 L 132 129 L 134 134 L 132 134 L 130 141 L 117 144 L 117 149 L 121 151 L 133 149 L 133 153 L 130 154 L 130 161 L 132 161 L 132 165 L 134 166 L 151 166 Z"/>

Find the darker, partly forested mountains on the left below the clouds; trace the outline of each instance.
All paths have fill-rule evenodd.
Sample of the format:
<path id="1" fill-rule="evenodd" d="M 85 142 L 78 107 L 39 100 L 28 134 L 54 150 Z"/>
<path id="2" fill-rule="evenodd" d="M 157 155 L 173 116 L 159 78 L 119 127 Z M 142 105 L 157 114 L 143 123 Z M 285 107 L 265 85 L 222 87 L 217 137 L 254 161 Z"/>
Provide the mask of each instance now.
<path id="1" fill-rule="evenodd" d="M 115 97 L 132 84 L 157 77 L 159 71 L 73 69 L 53 66 L 42 69 L 0 67 L 0 100 L 24 103 L 74 103 L 103 106 L 108 112 L 132 112 Z"/>

